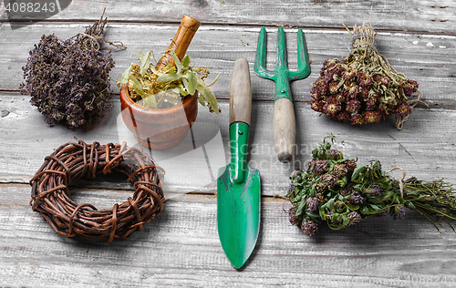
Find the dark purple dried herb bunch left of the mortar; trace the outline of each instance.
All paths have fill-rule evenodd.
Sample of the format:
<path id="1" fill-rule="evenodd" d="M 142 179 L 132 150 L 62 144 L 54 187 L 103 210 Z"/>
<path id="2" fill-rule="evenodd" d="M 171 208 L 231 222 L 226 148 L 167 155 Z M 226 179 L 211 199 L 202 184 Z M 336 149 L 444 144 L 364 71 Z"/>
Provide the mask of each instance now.
<path id="1" fill-rule="evenodd" d="M 109 105 L 109 71 L 114 67 L 110 55 L 99 51 L 99 41 L 113 44 L 101 35 L 107 19 L 102 16 L 85 33 L 65 41 L 43 35 L 29 52 L 21 93 L 46 116 L 48 124 L 65 122 L 69 128 L 88 128 Z"/>

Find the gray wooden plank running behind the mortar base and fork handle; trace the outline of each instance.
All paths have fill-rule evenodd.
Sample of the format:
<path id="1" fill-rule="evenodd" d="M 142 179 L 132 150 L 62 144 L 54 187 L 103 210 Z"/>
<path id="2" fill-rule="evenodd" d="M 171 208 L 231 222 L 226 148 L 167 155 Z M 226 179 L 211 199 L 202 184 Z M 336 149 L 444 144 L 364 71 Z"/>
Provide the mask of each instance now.
<path id="1" fill-rule="evenodd" d="M 255 92 L 254 92 L 255 93 Z M 114 108 L 92 129 L 67 129 L 63 125 L 49 127 L 43 117 L 31 108 L 26 97 L 17 93 L 0 93 L 0 181 L 21 182 L 30 180 L 41 166 L 44 158 L 68 141 L 82 139 L 88 143 L 98 141 L 137 145 L 131 133 L 123 129 L 119 118 L 119 101 Z M 168 170 L 165 175 L 166 191 L 214 192 L 218 168 L 229 159 L 228 110 L 229 102 L 222 99 L 222 114 L 216 116 L 199 108 L 195 123 L 193 147 L 191 135 L 177 148 L 152 151 L 152 157 Z M 6 114 L 7 113 L 7 114 Z M 250 136 L 249 164 L 260 170 L 264 195 L 284 194 L 289 185 L 290 173 L 306 168 L 311 150 L 333 133 L 337 136 L 337 147 L 348 158 L 358 164 L 379 159 L 385 170 L 402 167 L 408 176 L 421 180 L 446 178 L 456 183 L 453 171 L 455 155 L 456 111 L 441 108 L 415 108 L 412 116 L 401 131 L 394 127 L 394 118 L 387 121 L 358 127 L 339 123 L 326 116 L 319 116 L 306 102 L 295 103 L 296 151 L 295 161 L 283 164 L 275 155 L 273 138 L 273 103 L 254 101 Z M 341 141 L 344 143 L 341 144 Z M 133 144 L 131 144 L 133 143 Z M 206 160 L 202 145 L 205 145 Z M 146 151 L 148 152 L 148 151 Z M 208 162 L 210 165 L 208 165 Z M 399 177 L 399 174 L 393 174 Z M 101 187 L 127 187 L 121 181 L 112 184 L 95 182 Z"/>

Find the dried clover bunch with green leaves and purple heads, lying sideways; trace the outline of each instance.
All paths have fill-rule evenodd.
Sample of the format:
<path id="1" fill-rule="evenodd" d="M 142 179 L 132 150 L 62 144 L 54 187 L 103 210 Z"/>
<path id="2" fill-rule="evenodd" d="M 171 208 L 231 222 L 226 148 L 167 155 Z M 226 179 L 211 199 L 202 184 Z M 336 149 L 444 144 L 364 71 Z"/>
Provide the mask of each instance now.
<path id="1" fill-rule="evenodd" d="M 334 136 L 326 138 L 334 142 Z M 418 211 L 436 228 L 439 220 L 450 226 L 456 220 L 456 197 L 451 184 L 414 177 L 403 181 L 405 173 L 402 180 L 391 179 L 386 175 L 391 170 L 383 171 L 378 160 L 357 166 L 357 160 L 344 158 L 340 151 L 331 149 L 326 138 L 312 150 L 313 159 L 307 170 L 295 170 L 290 177 L 290 222 L 307 235 L 315 235 L 323 222 L 338 230 L 368 216 L 389 214 L 395 220 L 402 219 L 404 207 Z"/>

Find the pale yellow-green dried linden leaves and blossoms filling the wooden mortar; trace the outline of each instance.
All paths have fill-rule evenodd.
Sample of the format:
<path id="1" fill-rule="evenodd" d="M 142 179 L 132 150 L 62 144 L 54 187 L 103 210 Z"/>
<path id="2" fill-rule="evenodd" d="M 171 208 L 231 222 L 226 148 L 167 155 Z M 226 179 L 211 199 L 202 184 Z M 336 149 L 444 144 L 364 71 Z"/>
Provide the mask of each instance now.
<path id="1" fill-rule="evenodd" d="M 137 52 L 140 55 L 140 64 L 132 62 L 122 74 L 118 86 L 128 84 L 130 98 L 140 106 L 153 109 L 173 107 L 198 91 L 200 104 L 205 106 L 206 100 L 209 110 L 219 114 L 217 98 L 209 87 L 217 81 L 220 74 L 210 85 L 206 85 L 204 78 L 209 75 L 208 68 L 193 68 L 189 55 L 180 60 L 174 51 L 166 52 L 171 53 L 175 65 L 167 63 L 160 69 L 150 63 L 152 51 L 146 55 Z"/>

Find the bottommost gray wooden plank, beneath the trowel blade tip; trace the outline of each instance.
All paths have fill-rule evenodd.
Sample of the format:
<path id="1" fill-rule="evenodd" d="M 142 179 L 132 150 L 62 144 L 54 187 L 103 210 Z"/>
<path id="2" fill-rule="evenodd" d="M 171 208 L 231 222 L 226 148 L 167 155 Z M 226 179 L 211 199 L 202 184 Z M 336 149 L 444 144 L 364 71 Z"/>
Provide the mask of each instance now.
<path id="1" fill-rule="evenodd" d="M 98 199 L 98 192 L 84 192 L 86 201 Z M 28 201 L 28 186 L 0 185 L 3 286 L 452 287 L 456 273 L 451 229 L 439 233 L 412 211 L 402 221 L 322 227 L 309 238 L 289 224 L 287 203 L 265 198 L 257 246 L 239 273 L 218 239 L 214 197 L 167 201 L 142 231 L 111 243 L 58 235 Z"/>

